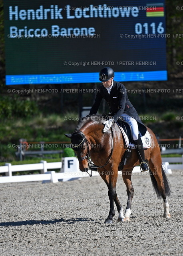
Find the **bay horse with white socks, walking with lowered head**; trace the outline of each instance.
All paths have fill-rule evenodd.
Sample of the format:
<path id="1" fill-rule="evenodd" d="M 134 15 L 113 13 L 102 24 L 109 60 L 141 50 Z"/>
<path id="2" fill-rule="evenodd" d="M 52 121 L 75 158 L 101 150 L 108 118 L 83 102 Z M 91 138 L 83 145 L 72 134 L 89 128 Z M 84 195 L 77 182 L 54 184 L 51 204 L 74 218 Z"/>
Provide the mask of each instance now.
<path id="1" fill-rule="evenodd" d="M 93 115 L 79 122 L 76 130 L 72 134 L 65 134 L 71 138 L 72 148 L 75 151 L 80 170 L 88 172 L 90 158 L 97 166 L 97 171 L 101 178 L 105 181 L 108 187 L 108 196 L 110 201 L 109 215 L 104 223 L 112 224 L 114 211 L 114 202 L 117 206 L 118 221 L 130 220 L 131 202 L 133 199 L 133 185 L 131 182 L 132 170 L 139 165 L 139 158 L 136 149 L 131 150 L 131 156 L 127 159 L 123 166 L 122 177 L 126 185 L 127 191 L 127 206 L 123 215 L 123 208 L 117 198 L 116 182 L 118 176 L 118 166 L 123 158 L 127 147 L 121 131 L 116 123 L 113 123 L 108 132 L 103 132 L 106 119 L 101 115 Z M 163 198 L 164 214 L 163 217 L 170 218 L 169 204 L 166 196 L 170 196 L 171 190 L 169 181 L 166 177 L 164 167 L 162 165 L 161 153 L 159 144 L 155 134 L 147 128 L 151 136 L 151 147 L 145 150 L 145 159 L 149 163 L 149 174 L 153 188 L 158 198 Z"/>

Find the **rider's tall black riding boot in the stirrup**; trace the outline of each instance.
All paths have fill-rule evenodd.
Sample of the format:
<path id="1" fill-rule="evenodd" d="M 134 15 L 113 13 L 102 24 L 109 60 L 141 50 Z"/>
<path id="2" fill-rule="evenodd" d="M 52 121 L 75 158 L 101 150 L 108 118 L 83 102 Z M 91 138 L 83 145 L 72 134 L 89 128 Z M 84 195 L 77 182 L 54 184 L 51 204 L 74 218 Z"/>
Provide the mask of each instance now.
<path id="1" fill-rule="evenodd" d="M 144 155 L 144 149 L 143 149 L 141 137 L 139 136 L 138 140 L 134 140 L 134 143 L 135 143 L 135 148 L 137 149 L 137 153 L 140 160 L 141 172 L 149 171 L 149 166 L 145 162 L 145 155 Z"/>

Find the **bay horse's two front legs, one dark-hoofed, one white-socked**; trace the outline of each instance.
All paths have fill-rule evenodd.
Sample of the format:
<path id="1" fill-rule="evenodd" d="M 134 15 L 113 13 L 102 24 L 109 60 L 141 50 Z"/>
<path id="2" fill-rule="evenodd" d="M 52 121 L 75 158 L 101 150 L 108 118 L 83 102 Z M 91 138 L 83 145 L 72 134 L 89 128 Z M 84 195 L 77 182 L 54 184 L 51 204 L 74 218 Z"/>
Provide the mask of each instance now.
<path id="1" fill-rule="evenodd" d="M 108 173 L 107 173 L 107 171 L 106 170 L 98 170 L 99 171 L 99 174 L 100 174 L 100 176 L 101 176 L 101 178 L 105 181 L 105 183 L 106 183 L 106 185 L 107 185 L 107 188 L 109 189 L 109 190 L 112 190 L 112 193 L 115 195 L 115 197 L 114 197 L 114 199 L 113 199 L 113 201 L 115 202 L 115 204 L 116 204 L 116 207 L 117 207 L 117 211 L 118 211 L 118 213 L 119 213 L 119 215 L 118 215 L 118 221 L 119 222 L 122 222 L 123 220 L 124 220 L 124 215 L 123 215 L 123 208 L 122 208 L 122 206 L 121 206 L 121 204 L 120 204 L 120 202 L 119 202 L 119 199 L 117 198 L 117 193 L 116 193 L 116 191 L 115 191 L 115 187 L 113 187 L 113 188 L 111 188 L 111 185 L 109 185 L 109 175 L 108 175 Z M 116 178 L 116 180 L 117 180 L 117 178 Z M 112 184 L 111 182 L 110 182 L 110 184 Z M 114 185 L 116 185 L 116 182 L 115 182 L 115 184 L 113 183 L 113 186 Z M 108 192 L 109 193 L 109 192 Z M 109 200 L 110 200 L 110 196 L 109 196 Z M 112 217 L 114 216 L 114 209 L 113 209 L 114 207 L 112 206 L 112 208 L 111 208 L 111 200 L 110 200 L 110 211 L 109 211 L 109 216 L 108 216 L 108 218 L 105 220 L 105 223 L 112 223 L 113 222 L 113 220 L 111 221 L 109 218 L 111 218 L 111 216 L 110 215 L 112 215 Z M 111 210 L 111 209 L 113 209 L 113 210 Z"/>

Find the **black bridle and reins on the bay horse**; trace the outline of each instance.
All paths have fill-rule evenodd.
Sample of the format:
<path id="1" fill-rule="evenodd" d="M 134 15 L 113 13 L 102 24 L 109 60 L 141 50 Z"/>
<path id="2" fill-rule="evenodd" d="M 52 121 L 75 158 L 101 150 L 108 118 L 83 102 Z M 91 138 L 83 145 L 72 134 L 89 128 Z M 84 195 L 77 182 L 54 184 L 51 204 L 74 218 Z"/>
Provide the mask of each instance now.
<path id="1" fill-rule="evenodd" d="M 76 146 L 76 145 L 74 145 L 72 143 L 71 143 L 71 145 L 72 145 L 73 148 L 78 148 L 80 145 L 82 145 L 83 142 L 86 143 L 87 154 L 86 154 L 86 156 L 82 156 L 82 157 L 78 158 L 78 161 L 83 161 L 83 160 L 87 159 L 88 167 L 91 169 L 91 174 L 89 174 L 88 172 L 87 173 L 89 174 L 90 177 L 92 177 L 92 169 L 102 168 L 102 167 L 106 166 L 107 164 L 109 164 L 109 161 L 111 159 L 112 152 L 113 152 L 113 130 L 112 130 L 112 127 L 111 127 L 111 135 L 112 135 L 111 153 L 110 153 L 110 155 L 108 157 L 107 162 L 104 165 L 102 165 L 102 166 L 96 166 L 95 164 L 93 164 L 93 162 L 91 160 L 91 157 L 90 157 L 90 149 L 89 149 L 90 142 L 87 140 L 85 134 L 82 131 L 80 131 L 80 130 L 76 130 L 74 133 L 81 134 L 83 136 L 83 139 L 82 139 L 82 142 L 80 142 L 79 145 Z"/>

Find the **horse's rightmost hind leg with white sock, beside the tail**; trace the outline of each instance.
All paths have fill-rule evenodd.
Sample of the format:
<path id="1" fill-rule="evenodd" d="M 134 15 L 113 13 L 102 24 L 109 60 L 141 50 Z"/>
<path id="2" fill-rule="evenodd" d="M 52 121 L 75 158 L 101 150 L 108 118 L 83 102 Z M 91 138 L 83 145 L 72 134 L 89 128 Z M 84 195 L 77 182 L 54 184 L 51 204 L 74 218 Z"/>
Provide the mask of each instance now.
<path id="1" fill-rule="evenodd" d="M 157 194 L 157 197 L 163 198 L 163 207 L 164 207 L 164 214 L 163 217 L 170 218 L 169 213 L 169 204 L 167 202 L 166 196 L 170 196 L 171 191 L 169 187 L 169 181 L 166 177 L 165 171 L 161 164 L 161 155 L 159 157 L 150 158 L 149 160 L 149 173 L 151 175 L 151 182 L 153 184 L 154 190 Z"/>

